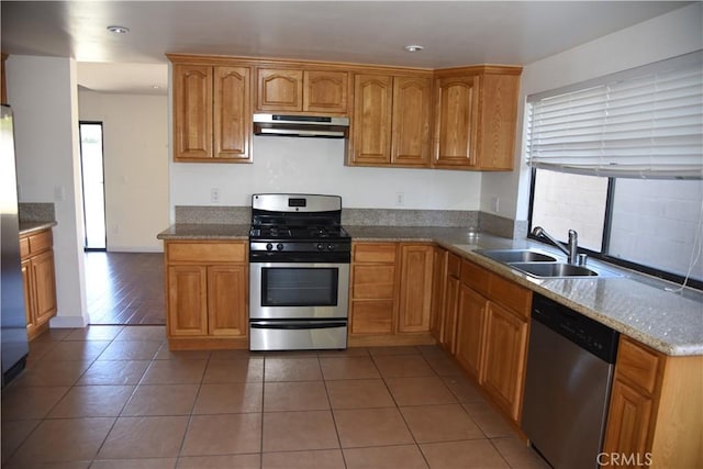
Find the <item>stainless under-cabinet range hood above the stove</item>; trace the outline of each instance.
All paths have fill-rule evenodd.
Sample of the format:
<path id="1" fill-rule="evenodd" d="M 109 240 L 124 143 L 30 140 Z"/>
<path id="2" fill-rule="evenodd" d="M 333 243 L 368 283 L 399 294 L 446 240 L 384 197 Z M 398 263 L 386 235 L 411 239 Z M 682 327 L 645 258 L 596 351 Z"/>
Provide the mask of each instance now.
<path id="1" fill-rule="evenodd" d="M 255 135 L 346 138 L 349 118 L 254 114 Z"/>

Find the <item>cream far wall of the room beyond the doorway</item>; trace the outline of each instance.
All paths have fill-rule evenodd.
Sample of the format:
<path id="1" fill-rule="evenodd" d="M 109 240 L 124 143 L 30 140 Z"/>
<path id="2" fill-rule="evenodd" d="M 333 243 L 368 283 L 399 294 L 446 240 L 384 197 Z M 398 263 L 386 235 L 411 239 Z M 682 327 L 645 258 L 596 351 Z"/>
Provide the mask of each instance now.
<path id="1" fill-rule="evenodd" d="M 168 98 L 78 93 L 80 119 L 101 121 L 108 250 L 161 252 L 168 219 Z"/>

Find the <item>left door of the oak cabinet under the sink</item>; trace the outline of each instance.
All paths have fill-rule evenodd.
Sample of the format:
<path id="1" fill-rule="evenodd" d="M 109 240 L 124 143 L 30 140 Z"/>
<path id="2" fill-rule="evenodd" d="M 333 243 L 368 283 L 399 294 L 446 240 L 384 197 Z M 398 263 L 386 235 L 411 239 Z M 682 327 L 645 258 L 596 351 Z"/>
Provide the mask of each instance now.
<path id="1" fill-rule="evenodd" d="M 481 370 L 487 303 L 486 298 L 466 284 L 459 287 L 456 357 L 464 369 L 479 383 L 483 381 Z"/>

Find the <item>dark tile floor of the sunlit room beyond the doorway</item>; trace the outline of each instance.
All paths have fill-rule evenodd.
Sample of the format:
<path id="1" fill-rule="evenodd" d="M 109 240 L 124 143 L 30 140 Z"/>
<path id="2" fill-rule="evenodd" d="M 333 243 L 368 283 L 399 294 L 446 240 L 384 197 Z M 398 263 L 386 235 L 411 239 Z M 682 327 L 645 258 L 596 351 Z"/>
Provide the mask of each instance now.
<path id="1" fill-rule="evenodd" d="M 85 256 L 90 324 L 166 324 L 161 253 Z"/>

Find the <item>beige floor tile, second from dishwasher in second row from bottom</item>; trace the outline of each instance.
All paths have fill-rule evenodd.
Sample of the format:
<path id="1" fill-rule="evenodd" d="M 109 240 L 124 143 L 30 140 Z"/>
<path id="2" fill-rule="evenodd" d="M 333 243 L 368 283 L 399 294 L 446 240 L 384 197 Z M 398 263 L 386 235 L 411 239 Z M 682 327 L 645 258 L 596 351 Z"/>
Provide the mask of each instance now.
<path id="1" fill-rule="evenodd" d="M 481 428 L 459 404 L 400 407 L 415 442 L 453 442 L 484 438 Z"/>

